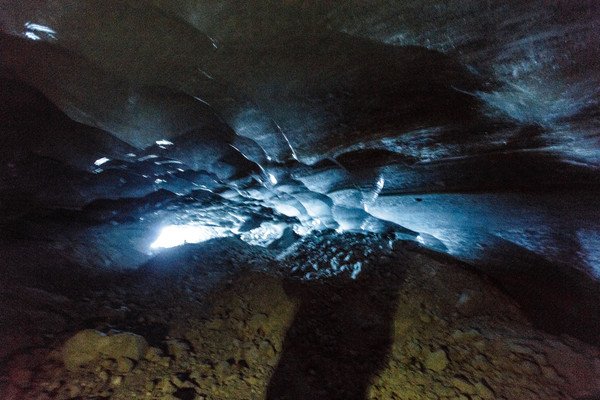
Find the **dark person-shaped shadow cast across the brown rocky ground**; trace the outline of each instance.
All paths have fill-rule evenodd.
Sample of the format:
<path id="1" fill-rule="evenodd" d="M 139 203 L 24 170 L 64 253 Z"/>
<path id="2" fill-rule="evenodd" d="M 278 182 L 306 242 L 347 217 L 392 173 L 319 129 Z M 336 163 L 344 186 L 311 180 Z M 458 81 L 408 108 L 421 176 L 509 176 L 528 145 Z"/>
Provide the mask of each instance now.
<path id="1" fill-rule="evenodd" d="M 366 398 L 373 376 L 385 367 L 404 275 L 401 262 L 374 261 L 356 280 L 288 281 L 286 292 L 301 305 L 267 399 Z"/>

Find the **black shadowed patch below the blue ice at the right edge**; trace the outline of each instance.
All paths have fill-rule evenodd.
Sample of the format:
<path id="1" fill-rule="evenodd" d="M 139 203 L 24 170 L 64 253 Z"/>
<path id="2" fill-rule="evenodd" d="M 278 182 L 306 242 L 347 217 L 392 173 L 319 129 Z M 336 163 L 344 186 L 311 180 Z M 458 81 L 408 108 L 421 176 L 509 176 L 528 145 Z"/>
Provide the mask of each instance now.
<path id="1" fill-rule="evenodd" d="M 580 250 L 572 236 L 563 236 L 571 242 L 567 260 L 574 260 Z M 600 345 L 600 283 L 573 263 L 551 262 L 498 238 L 474 267 L 517 300 L 537 328 Z"/>

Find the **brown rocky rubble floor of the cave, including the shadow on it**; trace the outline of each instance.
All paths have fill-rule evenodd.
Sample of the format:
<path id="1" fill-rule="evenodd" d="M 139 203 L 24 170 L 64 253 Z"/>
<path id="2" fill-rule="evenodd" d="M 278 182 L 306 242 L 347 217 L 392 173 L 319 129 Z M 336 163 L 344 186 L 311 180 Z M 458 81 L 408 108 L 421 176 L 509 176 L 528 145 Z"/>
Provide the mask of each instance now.
<path id="1" fill-rule="evenodd" d="M 2 249 L 5 400 L 600 398 L 600 349 L 536 329 L 485 276 L 385 235 L 278 255 L 219 239 L 134 272 Z"/>

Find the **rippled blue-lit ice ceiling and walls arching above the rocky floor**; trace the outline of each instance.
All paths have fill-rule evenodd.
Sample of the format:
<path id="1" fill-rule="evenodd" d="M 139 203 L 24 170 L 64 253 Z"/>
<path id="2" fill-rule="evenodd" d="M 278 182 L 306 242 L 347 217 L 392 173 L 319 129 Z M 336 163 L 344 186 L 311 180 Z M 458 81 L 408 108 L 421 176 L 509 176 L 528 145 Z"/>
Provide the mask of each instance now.
<path id="1" fill-rule="evenodd" d="M 0 9 L 2 218 L 80 261 L 334 229 L 600 276 L 594 2 Z"/>

